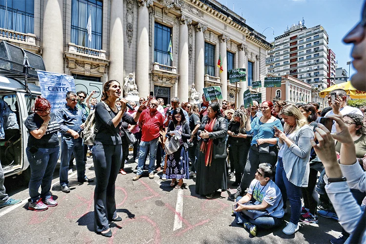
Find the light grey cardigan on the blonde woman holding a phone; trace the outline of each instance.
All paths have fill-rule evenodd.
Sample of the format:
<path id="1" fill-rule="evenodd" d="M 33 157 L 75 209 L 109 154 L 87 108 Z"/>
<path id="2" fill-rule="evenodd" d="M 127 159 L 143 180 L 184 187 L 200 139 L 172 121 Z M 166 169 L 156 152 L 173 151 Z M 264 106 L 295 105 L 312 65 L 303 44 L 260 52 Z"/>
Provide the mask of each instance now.
<path id="1" fill-rule="evenodd" d="M 282 162 L 284 163 L 286 177 L 289 182 L 296 186 L 307 187 L 310 170 L 310 139 L 314 138 L 314 132 L 309 125 L 304 125 L 288 135 L 287 138 L 294 142 L 290 147 L 286 143 L 278 142 L 284 152 Z"/>

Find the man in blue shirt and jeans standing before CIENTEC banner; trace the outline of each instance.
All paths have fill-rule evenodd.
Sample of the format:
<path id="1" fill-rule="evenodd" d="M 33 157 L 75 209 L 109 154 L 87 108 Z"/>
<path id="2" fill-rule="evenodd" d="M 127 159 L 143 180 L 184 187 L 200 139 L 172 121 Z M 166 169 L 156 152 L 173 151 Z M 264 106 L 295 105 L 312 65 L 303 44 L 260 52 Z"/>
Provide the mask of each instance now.
<path id="1" fill-rule="evenodd" d="M 69 193 L 67 172 L 72 153 L 74 153 L 76 160 L 78 182 L 93 182 L 94 180 L 86 178 L 85 163 L 83 162 L 84 145 L 80 133 L 84 127 L 82 121 L 85 121 L 86 117 L 82 117 L 81 109 L 76 106 L 78 98 L 75 92 L 66 93 L 66 102 L 65 106 L 57 111 L 56 120 L 60 124 L 62 135 L 60 185 L 63 192 Z"/>

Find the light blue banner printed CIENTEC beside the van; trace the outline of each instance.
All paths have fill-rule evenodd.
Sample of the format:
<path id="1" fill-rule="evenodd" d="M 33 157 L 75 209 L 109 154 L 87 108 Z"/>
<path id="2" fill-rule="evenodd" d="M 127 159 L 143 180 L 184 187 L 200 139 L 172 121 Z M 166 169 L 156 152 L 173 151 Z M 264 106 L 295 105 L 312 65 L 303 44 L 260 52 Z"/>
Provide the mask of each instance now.
<path id="1" fill-rule="evenodd" d="M 41 95 L 51 103 L 51 112 L 56 112 L 66 103 L 66 93 L 75 92 L 72 76 L 37 70 L 40 81 Z"/>

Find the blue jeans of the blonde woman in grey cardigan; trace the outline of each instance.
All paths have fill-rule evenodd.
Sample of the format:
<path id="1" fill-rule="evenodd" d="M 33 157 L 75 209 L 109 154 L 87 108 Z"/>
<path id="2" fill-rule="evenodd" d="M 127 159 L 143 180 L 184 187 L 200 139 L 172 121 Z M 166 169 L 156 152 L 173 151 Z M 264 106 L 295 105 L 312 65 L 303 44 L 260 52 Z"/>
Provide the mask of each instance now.
<path id="1" fill-rule="evenodd" d="M 286 172 L 284 169 L 284 163 L 282 158 L 278 158 L 278 164 L 276 168 L 276 184 L 280 188 L 282 197 L 284 200 L 284 208 L 288 200 L 291 204 L 291 217 L 290 222 L 292 224 L 297 224 L 300 219 L 301 214 L 301 187 L 294 185 L 289 182 L 286 177 Z"/>

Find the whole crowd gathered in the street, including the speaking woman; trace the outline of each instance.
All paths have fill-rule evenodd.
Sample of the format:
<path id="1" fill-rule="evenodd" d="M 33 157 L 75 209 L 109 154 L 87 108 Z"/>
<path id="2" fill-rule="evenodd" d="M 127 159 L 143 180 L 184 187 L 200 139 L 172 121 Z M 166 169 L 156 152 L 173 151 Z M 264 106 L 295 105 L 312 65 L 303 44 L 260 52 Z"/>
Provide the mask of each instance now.
<path id="1" fill-rule="evenodd" d="M 344 40 L 357 47 L 355 52 L 366 51 L 365 23 L 366 6 L 363 20 Z M 365 60 L 365 53 L 357 57 Z M 365 67 L 357 71 L 361 75 L 352 83 L 366 90 Z M 322 110 L 316 102 L 285 101 L 253 101 L 248 108 L 236 108 L 234 102 L 220 104 L 204 96 L 200 104 L 174 97 L 165 105 L 153 96 L 137 104 L 125 99 L 116 80 L 104 84 L 100 102 L 93 98 L 94 91 L 87 98 L 84 91 L 68 92 L 65 107 L 56 114 L 50 112 L 50 102 L 38 97 L 34 113 L 24 122 L 31 168 L 28 208 L 43 211 L 57 205 L 50 188 L 61 153 L 61 191 L 70 192 L 68 173 L 75 158 L 78 182 L 96 181 L 94 229 L 111 237 L 108 224 L 122 221 L 116 211 L 115 182 L 119 173 L 127 174 L 124 165 L 131 145 L 137 162 L 133 181 L 144 170 L 149 179 L 162 171 L 162 181 L 170 179 L 176 189 L 195 178 L 196 194 L 207 199 L 230 185 L 237 187 L 229 197 L 235 221 L 252 236 L 260 228 L 283 225 L 290 203 L 286 235 L 298 231 L 299 222 L 318 223 L 319 215 L 339 220 L 344 228 L 332 244 L 365 243 L 366 111 L 347 105 L 346 91 L 332 92 L 335 100 L 329 95 L 328 107 Z M 91 125 L 92 141 L 82 133 Z M 95 179 L 85 176 L 89 150 Z M 19 203 L 0 188 L 1 207 Z"/>

